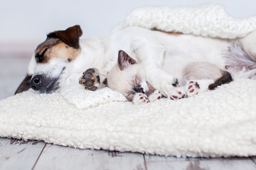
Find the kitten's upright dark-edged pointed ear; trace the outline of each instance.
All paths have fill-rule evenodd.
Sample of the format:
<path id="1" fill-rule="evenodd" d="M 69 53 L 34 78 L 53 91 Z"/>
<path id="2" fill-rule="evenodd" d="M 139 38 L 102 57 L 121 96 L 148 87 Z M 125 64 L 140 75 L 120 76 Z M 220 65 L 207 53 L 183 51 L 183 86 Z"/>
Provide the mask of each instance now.
<path id="1" fill-rule="evenodd" d="M 131 58 L 126 52 L 120 50 L 118 53 L 118 65 L 120 70 L 124 70 L 137 62 Z"/>

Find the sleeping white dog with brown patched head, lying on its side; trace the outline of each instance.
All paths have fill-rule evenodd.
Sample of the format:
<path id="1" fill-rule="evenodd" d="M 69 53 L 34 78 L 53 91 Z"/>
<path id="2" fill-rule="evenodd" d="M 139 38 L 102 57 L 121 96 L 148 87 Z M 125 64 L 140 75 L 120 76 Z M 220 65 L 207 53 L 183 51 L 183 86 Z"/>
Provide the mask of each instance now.
<path id="1" fill-rule="evenodd" d="M 30 86 L 38 93 L 58 92 L 63 86 L 77 83 L 86 68 L 97 68 L 99 72 L 88 69 L 79 79 L 80 83 L 92 91 L 105 87 L 105 75 L 117 63 L 120 50 L 143 65 L 147 82 L 164 96 L 169 96 L 179 86 L 181 76 L 179 63 L 171 68 L 174 75 L 161 69 L 168 56 L 184 58 L 186 62 L 210 62 L 230 72 L 234 78 L 255 79 L 256 32 L 236 40 L 169 34 L 137 27 L 128 27 L 108 37 L 79 41 L 81 35 L 79 26 L 48 34 L 37 47 L 28 76 L 17 93 L 28 89 L 30 77 Z"/>

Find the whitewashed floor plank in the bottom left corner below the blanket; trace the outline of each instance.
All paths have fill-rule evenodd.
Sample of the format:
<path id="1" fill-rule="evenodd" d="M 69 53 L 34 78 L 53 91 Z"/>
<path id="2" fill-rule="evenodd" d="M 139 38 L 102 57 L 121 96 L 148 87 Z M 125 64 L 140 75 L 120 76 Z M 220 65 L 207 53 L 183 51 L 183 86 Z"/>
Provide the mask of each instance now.
<path id="1" fill-rule="evenodd" d="M 0 169 L 32 169 L 45 142 L 0 137 Z"/>

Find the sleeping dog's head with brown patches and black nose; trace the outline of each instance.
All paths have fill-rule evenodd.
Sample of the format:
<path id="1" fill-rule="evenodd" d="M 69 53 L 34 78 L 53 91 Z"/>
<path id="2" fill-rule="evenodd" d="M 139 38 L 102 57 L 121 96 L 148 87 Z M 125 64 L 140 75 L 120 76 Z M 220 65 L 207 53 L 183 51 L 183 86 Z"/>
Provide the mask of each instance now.
<path id="1" fill-rule="evenodd" d="M 16 93 L 29 88 L 29 79 L 30 87 L 38 93 L 57 92 L 75 68 L 81 35 L 79 26 L 48 34 L 47 39 L 37 47 L 29 64 L 29 73 Z"/>

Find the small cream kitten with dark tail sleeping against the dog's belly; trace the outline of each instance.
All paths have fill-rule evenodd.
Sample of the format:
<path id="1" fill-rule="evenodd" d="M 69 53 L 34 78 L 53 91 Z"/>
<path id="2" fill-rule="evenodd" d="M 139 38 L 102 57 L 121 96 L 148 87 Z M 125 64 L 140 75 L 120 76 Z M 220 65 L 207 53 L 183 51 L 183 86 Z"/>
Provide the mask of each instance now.
<path id="1" fill-rule="evenodd" d="M 172 61 L 164 59 L 162 70 L 170 75 L 178 74 L 177 87 L 168 94 L 169 99 L 178 100 L 194 96 L 200 92 L 213 90 L 217 86 L 232 81 L 230 73 L 208 62 L 192 62 L 182 65 L 180 72 L 172 71 Z M 162 97 L 160 89 L 154 89 L 148 82 L 143 65 L 124 51 L 119 51 L 118 63 L 107 75 L 108 86 L 122 93 L 134 104 L 153 102 Z M 98 71 L 96 69 L 96 71 Z M 173 84 L 173 86 L 176 86 Z M 179 87 L 178 87 L 179 86 Z"/>

